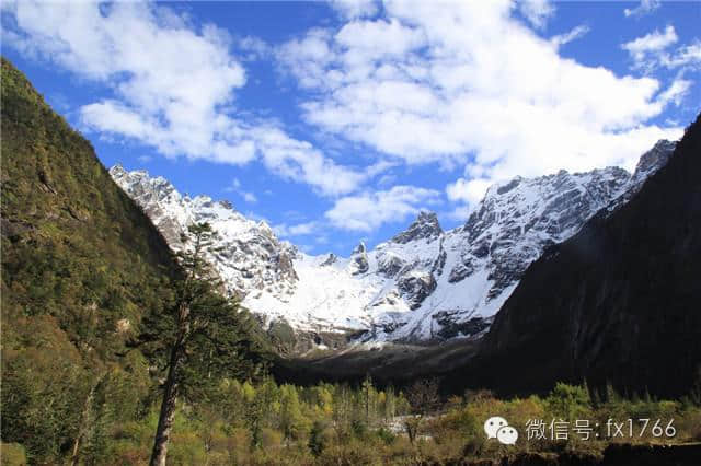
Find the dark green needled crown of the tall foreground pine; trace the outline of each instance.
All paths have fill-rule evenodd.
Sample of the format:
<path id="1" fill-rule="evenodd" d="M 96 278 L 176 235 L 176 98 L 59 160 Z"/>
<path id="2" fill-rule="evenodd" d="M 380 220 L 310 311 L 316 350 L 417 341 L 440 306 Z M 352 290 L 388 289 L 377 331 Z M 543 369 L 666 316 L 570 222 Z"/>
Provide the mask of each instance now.
<path id="1" fill-rule="evenodd" d="M 149 319 L 149 336 L 162 350 L 170 351 L 183 337 L 179 395 L 193 403 L 210 396 L 222 378 L 258 376 L 266 362 L 253 318 L 220 293 L 223 284 L 204 259 L 216 237 L 208 223 L 189 226 L 189 236 L 183 237 L 186 248 L 177 253 L 183 273 L 172 282 L 171 318 Z"/>

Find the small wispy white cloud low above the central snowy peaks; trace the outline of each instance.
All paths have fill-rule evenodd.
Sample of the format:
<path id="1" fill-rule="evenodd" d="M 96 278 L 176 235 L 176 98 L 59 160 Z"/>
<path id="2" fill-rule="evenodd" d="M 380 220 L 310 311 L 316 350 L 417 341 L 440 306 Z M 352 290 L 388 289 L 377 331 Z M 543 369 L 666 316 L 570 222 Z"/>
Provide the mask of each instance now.
<path id="1" fill-rule="evenodd" d="M 337 229 L 371 232 L 384 223 L 418 213 L 422 207 L 439 201 L 440 193 L 415 186 L 363 193 L 335 201 L 325 217 Z"/>

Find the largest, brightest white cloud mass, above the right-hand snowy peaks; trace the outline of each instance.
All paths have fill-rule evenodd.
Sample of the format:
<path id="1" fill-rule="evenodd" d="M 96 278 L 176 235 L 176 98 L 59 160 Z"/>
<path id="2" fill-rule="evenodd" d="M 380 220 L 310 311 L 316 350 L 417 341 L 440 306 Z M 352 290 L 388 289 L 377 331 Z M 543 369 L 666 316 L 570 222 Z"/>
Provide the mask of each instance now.
<path id="1" fill-rule="evenodd" d="M 680 88 L 560 57 L 508 1 L 388 0 L 384 12 L 313 30 L 278 58 L 308 91 L 308 123 L 410 165 L 464 166 L 470 190 L 450 188 L 456 201 L 515 175 L 632 167 L 657 139 L 681 133 L 647 124 Z"/>

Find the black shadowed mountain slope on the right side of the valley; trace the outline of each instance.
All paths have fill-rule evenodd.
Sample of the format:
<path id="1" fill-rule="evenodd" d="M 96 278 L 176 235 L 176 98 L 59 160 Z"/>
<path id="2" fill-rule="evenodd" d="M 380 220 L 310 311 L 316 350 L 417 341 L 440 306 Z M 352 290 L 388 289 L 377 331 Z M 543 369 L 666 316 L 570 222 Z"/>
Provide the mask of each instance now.
<path id="1" fill-rule="evenodd" d="M 640 170 L 650 173 L 659 147 Z M 699 173 L 701 115 L 628 203 L 595 215 L 528 268 L 481 358 L 461 373 L 510 391 L 586 380 L 629 394 L 688 394 L 701 368 Z"/>

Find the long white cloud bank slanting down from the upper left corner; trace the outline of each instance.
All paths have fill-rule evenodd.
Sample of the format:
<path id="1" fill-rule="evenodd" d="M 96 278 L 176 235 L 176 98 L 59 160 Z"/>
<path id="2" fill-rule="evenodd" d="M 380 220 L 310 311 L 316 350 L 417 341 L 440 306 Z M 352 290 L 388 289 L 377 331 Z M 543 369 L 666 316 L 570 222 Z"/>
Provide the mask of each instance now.
<path id="1" fill-rule="evenodd" d="M 140 2 L 26 0 L 3 8 L 16 23 L 12 46 L 114 89 L 114 98 L 80 109 L 89 130 L 131 138 L 170 158 L 262 159 L 273 173 L 323 195 L 347 194 L 365 179 L 274 123 L 234 116 L 246 73 L 229 51 L 231 36 L 215 25 L 196 27 L 186 15 Z M 265 53 L 254 39 L 239 46 Z"/>

